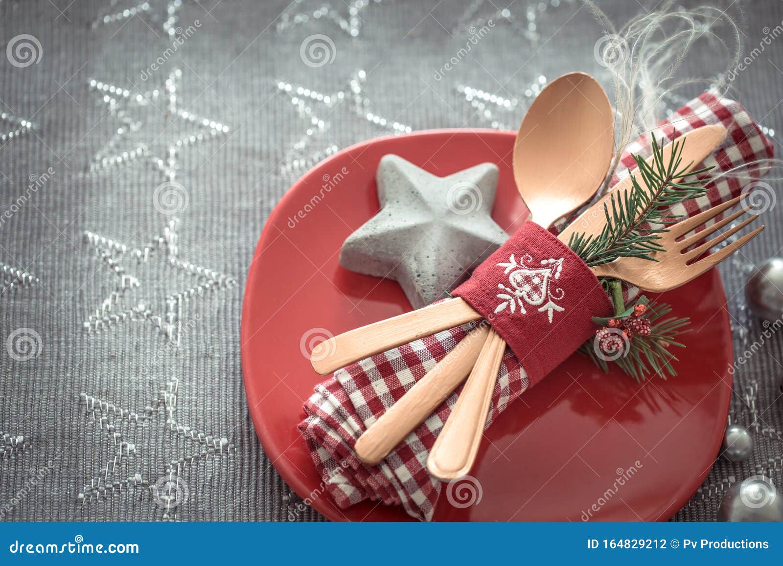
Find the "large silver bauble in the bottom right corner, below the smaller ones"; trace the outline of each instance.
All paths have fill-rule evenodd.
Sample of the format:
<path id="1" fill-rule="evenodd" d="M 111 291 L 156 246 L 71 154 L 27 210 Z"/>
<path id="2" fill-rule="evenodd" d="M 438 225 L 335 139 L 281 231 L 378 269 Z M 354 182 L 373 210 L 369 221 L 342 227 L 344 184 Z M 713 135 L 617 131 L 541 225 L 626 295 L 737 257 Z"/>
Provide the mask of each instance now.
<path id="1" fill-rule="evenodd" d="M 783 496 L 769 478 L 752 476 L 728 489 L 718 521 L 783 521 Z"/>

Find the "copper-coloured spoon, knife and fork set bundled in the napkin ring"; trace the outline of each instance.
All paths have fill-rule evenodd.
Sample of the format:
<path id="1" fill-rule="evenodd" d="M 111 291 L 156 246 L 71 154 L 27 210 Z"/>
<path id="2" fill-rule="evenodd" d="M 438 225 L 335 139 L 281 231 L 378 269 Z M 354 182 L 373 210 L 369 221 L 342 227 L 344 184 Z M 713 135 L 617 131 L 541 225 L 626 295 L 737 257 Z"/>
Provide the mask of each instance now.
<path id="1" fill-rule="evenodd" d="M 663 147 L 661 155 L 664 160 L 683 164 L 677 168 L 682 178 L 713 153 L 725 135 L 726 130 L 720 125 L 697 128 Z M 589 202 L 608 173 L 613 146 L 612 107 L 597 81 L 586 74 L 570 73 L 544 88 L 525 114 L 514 142 L 514 180 L 530 211 L 530 222 L 549 228 L 558 218 Z M 655 155 L 648 163 L 654 159 Z M 606 225 L 604 210 L 612 210 L 612 196 L 633 190 L 633 178 L 638 181 L 639 175 L 645 175 L 640 169 L 643 168 L 634 169 L 615 184 L 571 222 L 557 240 L 568 246 L 574 239 L 599 236 Z M 619 279 L 650 292 L 680 287 L 713 268 L 763 230 L 761 225 L 720 251 L 707 254 L 757 218 L 758 215 L 751 215 L 712 240 L 706 240 L 746 215 L 749 208 L 745 207 L 687 236 L 729 211 L 743 196 L 681 222 L 669 223 L 657 240 L 661 249 L 650 251 L 655 263 L 645 258 L 620 257 L 590 269 L 598 278 Z M 312 366 L 316 372 L 326 375 L 401 344 L 474 321 L 481 322 L 361 435 L 355 451 L 364 463 L 381 462 L 467 377 L 427 462 L 427 469 L 435 478 L 452 480 L 467 474 L 482 439 L 506 342 L 483 315 L 457 297 L 350 330 L 313 349 Z M 524 367 L 525 359 L 520 362 Z"/>

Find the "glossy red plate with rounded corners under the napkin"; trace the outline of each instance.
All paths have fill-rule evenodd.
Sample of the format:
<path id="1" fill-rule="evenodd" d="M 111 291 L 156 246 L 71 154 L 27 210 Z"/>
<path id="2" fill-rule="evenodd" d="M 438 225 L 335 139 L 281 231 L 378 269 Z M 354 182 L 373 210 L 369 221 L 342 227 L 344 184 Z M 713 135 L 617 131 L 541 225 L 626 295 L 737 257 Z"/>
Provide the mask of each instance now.
<path id="1" fill-rule="evenodd" d="M 360 143 L 309 171 L 266 222 L 242 312 L 247 401 L 280 475 L 330 519 L 410 518 L 376 503 L 337 509 L 321 494 L 297 431 L 302 404 L 323 380 L 301 351 L 302 336 L 319 328 L 337 334 L 410 310 L 397 283 L 348 272 L 337 261 L 343 240 L 378 211 L 378 161 L 396 153 L 440 176 L 497 164 L 493 218 L 512 233 L 526 216 L 511 171 L 513 144 L 513 133 L 487 130 Z M 720 449 L 731 398 L 731 331 L 717 270 L 665 300 L 692 319 L 687 349 L 677 352 L 678 377 L 636 384 L 572 356 L 486 433 L 472 472 L 482 485 L 481 502 L 458 509 L 442 497 L 435 520 L 646 521 L 675 514 Z"/>

